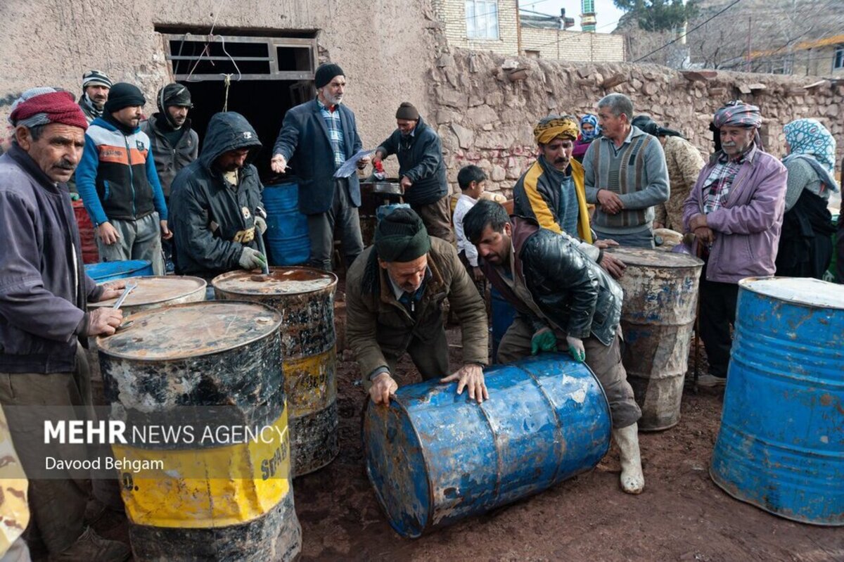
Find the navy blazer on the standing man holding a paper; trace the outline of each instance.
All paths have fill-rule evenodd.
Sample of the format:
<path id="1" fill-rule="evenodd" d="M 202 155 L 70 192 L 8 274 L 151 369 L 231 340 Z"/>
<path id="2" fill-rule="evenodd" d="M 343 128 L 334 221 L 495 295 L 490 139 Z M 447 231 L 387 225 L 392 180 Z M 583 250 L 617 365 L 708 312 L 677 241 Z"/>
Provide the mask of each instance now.
<path id="1" fill-rule="evenodd" d="M 343 126 L 346 159 L 357 153 L 362 144 L 354 113 L 338 105 Z M 299 178 L 299 210 L 303 214 L 325 213 L 334 201 L 334 152 L 328 140 L 328 127 L 317 98 L 296 105 L 284 114 L 284 123 L 275 141 L 273 155 L 281 154 Z M 360 207 L 360 181 L 349 176 L 349 197 Z"/>

